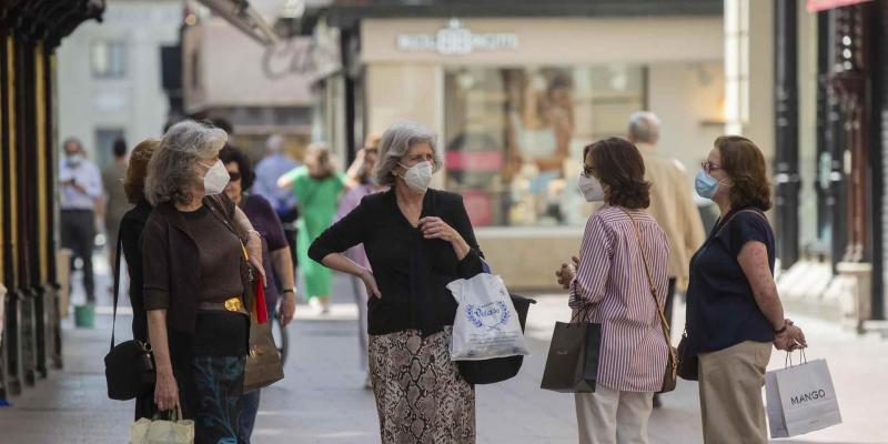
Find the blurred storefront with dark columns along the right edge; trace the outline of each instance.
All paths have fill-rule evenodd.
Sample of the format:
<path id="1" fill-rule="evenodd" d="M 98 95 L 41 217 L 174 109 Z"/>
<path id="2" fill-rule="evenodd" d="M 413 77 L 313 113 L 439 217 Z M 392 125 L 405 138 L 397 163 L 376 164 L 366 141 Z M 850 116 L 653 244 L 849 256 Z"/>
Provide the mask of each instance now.
<path id="1" fill-rule="evenodd" d="M 865 330 L 886 319 L 888 2 L 776 4 L 780 286 Z"/>

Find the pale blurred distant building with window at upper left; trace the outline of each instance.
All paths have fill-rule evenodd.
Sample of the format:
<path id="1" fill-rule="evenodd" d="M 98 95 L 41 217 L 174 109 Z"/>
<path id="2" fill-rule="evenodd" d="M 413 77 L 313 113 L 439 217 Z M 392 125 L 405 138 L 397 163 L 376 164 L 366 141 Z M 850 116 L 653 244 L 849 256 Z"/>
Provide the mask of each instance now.
<path id="1" fill-rule="evenodd" d="M 130 147 L 162 134 L 169 100 L 161 49 L 179 40 L 182 2 L 118 0 L 59 49 L 59 135 L 83 142 L 100 167 L 115 139 Z"/>

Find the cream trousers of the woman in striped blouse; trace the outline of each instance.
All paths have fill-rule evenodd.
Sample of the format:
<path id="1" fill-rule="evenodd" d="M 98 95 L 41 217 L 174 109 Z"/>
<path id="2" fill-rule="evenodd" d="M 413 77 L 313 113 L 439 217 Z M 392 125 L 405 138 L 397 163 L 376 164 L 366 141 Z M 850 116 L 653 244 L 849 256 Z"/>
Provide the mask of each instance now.
<path id="1" fill-rule="evenodd" d="M 647 444 L 654 392 L 618 392 L 598 385 L 595 393 L 574 397 L 579 444 Z"/>

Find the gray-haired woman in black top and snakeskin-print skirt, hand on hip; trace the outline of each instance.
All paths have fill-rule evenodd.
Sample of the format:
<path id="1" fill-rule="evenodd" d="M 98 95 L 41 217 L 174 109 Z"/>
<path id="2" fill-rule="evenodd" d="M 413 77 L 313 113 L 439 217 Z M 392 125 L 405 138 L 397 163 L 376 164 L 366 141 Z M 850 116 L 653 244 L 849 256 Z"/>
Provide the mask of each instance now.
<path id="1" fill-rule="evenodd" d="M 360 278 L 370 297 L 370 372 L 383 443 L 475 442 L 475 391 L 450 360 L 456 302 L 445 285 L 482 272 L 458 194 L 430 189 L 436 135 L 411 122 L 382 137 L 365 196 L 322 233 L 309 255 Z M 342 254 L 364 244 L 371 269 Z M 372 271 L 371 271 L 372 270 Z"/>

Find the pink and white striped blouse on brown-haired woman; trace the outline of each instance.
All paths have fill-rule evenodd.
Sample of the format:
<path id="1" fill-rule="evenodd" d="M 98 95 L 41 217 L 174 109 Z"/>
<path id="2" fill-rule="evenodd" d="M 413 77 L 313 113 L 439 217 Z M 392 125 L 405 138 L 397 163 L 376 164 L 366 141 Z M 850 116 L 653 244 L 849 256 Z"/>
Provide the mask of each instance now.
<path id="1" fill-rule="evenodd" d="M 626 211 L 638 223 L 658 304 L 663 305 L 668 286 L 666 234 L 643 211 Z M 604 206 L 586 222 L 569 305 L 576 312 L 588 304 L 592 310 L 587 321 L 602 324 L 597 384 L 623 392 L 659 391 L 666 370 L 666 340 L 635 229 L 618 206 Z"/>

